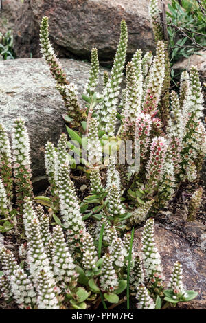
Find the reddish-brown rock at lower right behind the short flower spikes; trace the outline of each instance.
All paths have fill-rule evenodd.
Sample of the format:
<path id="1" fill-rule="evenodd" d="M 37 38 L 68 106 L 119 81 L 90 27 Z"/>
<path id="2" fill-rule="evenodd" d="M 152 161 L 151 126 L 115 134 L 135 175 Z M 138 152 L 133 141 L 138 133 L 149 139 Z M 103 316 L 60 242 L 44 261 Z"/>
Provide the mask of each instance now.
<path id="1" fill-rule="evenodd" d="M 135 250 L 141 249 L 141 232 L 135 232 Z M 161 254 L 165 282 L 168 283 L 176 260 L 183 265 L 183 282 L 187 289 L 198 291 L 198 296 L 190 301 L 179 303 L 179 309 L 206 309 L 206 254 L 196 245 L 181 236 L 155 225 L 155 241 Z"/>

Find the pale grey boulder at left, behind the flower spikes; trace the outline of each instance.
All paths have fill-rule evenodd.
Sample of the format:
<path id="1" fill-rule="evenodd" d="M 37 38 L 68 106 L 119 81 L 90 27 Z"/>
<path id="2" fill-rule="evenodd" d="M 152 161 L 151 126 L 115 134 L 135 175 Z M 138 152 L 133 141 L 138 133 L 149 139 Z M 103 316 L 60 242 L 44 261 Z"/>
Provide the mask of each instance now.
<path id="1" fill-rule="evenodd" d="M 89 63 L 61 60 L 68 80 L 82 93 L 89 74 Z M 103 74 L 103 69 L 101 69 Z M 55 89 L 49 67 L 41 59 L 23 58 L 0 62 L 0 122 L 10 131 L 12 122 L 23 117 L 28 126 L 34 181 L 43 179 L 44 148 L 47 140 L 57 142 L 65 131 L 65 107 Z"/>

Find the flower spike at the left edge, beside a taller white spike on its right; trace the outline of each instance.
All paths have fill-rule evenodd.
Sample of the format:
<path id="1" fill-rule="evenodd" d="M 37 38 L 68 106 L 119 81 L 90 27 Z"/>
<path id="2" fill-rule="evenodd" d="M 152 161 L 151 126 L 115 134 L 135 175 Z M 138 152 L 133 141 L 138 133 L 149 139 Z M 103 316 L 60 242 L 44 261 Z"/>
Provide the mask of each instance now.
<path id="1" fill-rule="evenodd" d="M 0 177 L 5 187 L 8 200 L 13 197 L 12 154 L 8 135 L 4 126 L 0 124 Z"/>

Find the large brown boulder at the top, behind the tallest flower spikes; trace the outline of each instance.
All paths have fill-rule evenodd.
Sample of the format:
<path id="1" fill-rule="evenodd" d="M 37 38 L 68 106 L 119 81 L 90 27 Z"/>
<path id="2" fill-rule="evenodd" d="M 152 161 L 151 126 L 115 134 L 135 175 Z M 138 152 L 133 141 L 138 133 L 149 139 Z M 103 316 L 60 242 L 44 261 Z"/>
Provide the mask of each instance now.
<path id="1" fill-rule="evenodd" d="M 14 32 L 15 52 L 19 58 L 30 54 L 39 57 L 42 16 L 49 16 L 51 41 L 60 57 L 88 58 L 91 48 L 97 47 L 101 60 L 113 59 L 122 19 L 128 24 L 128 56 L 137 48 L 154 50 L 148 3 L 148 0 L 25 0 Z"/>

